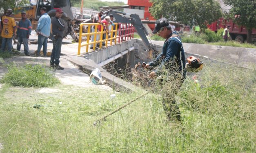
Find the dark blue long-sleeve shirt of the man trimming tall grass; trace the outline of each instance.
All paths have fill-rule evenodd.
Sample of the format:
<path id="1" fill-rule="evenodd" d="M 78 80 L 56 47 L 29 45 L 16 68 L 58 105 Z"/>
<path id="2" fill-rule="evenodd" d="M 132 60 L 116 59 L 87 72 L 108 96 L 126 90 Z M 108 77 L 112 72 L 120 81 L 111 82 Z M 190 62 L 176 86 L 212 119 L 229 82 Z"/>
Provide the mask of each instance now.
<path id="1" fill-rule="evenodd" d="M 175 35 L 175 36 L 174 36 Z M 178 65 L 176 65 L 178 64 Z M 181 72 L 183 77 L 186 75 L 185 70 L 185 53 L 182 46 L 180 37 L 178 37 L 176 31 L 171 33 L 171 36 L 165 40 L 162 52 L 149 63 L 149 66 L 158 66 L 155 70 L 156 74 L 159 74 L 164 66 L 170 71 Z"/>

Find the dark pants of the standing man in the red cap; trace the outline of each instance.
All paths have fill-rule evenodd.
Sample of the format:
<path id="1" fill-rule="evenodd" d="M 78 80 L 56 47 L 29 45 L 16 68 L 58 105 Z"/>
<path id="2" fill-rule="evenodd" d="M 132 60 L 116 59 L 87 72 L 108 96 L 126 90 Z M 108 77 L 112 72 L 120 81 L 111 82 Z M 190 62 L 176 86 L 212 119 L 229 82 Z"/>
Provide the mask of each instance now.
<path id="1" fill-rule="evenodd" d="M 50 65 L 59 65 L 60 63 L 60 51 L 61 51 L 61 44 L 62 44 L 62 37 L 53 37 L 53 48 L 51 52 L 51 61 Z"/>

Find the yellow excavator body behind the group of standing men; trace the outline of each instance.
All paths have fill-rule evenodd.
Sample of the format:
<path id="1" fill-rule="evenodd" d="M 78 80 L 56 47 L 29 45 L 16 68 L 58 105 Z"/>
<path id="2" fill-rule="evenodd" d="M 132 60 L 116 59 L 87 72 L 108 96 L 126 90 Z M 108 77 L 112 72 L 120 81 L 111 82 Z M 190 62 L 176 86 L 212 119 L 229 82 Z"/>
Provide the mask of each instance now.
<path id="1" fill-rule="evenodd" d="M 25 11 L 27 13 L 27 18 L 31 21 L 32 29 L 36 30 L 38 25 L 38 20 L 41 16 L 40 9 L 45 7 L 47 9 L 47 14 L 50 17 L 55 16 L 56 9 L 61 8 L 64 12 L 62 15 L 62 23 L 65 24 L 65 31 L 63 32 L 63 37 L 66 37 L 68 34 L 75 40 L 78 40 L 78 36 L 76 35 L 73 28 L 73 13 L 71 11 L 71 2 L 70 0 L 29 0 L 29 4 L 18 7 L 15 9 L 15 15 L 13 18 L 16 21 L 20 21 L 21 12 Z"/>

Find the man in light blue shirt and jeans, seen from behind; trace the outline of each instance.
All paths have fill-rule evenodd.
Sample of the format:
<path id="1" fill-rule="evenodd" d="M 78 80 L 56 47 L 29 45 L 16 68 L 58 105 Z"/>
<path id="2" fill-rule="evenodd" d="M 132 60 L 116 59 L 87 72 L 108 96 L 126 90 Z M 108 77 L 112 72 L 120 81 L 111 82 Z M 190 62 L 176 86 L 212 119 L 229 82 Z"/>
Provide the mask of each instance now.
<path id="1" fill-rule="evenodd" d="M 51 18 L 46 13 L 46 8 L 42 7 L 40 9 L 41 17 L 38 20 L 38 26 L 36 28 L 36 33 L 38 35 L 38 47 L 36 56 L 39 56 L 40 50 L 43 46 L 43 54 L 44 57 L 46 57 L 46 51 L 47 51 L 47 39 L 50 36 L 51 31 Z"/>

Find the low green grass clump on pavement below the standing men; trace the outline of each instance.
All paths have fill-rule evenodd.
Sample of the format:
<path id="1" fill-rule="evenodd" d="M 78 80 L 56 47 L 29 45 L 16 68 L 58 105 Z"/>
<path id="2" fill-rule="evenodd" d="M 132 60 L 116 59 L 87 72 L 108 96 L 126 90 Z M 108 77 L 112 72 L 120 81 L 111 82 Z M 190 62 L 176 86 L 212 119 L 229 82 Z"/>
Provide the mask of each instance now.
<path id="1" fill-rule="evenodd" d="M 7 68 L 8 72 L 0 83 L 23 87 L 49 87 L 60 83 L 52 74 L 51 69 L 45 66 L 27 64 L 22 67 L 14 63 L 8 65 Z"/>

